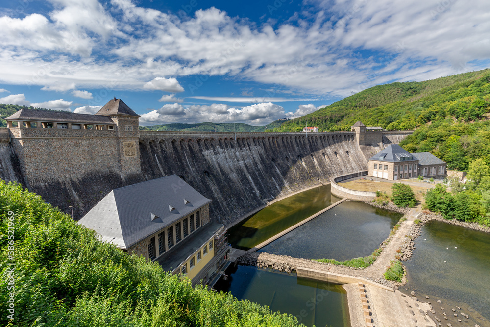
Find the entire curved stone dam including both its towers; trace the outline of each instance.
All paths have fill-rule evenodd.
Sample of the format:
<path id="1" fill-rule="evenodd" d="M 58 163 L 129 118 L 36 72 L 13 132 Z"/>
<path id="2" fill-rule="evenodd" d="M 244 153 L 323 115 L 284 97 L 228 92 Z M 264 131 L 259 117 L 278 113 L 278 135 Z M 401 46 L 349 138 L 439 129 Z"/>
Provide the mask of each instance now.
<path id="1" fill-rule="evenodd" d="M 0 178 L 18 181 L 81 218 L 112 189 L 175 174 L 205 197 L 211 221 L 230 223 L 267 200 L 359 172 L 411 131 L 361 122 L 347 132 L 140 131 L 121 99 L 95 115 L 22 109 L 0 128 Z"/>

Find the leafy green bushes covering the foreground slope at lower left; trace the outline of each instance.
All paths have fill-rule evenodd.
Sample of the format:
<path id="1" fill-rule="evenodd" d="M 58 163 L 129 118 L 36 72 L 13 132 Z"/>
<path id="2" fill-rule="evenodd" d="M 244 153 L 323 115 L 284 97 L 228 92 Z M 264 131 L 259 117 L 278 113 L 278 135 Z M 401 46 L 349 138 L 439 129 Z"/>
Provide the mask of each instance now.
<path id="1" fill-rule="evenodd" d="M 1 326 L 298 326 L 292 315 L 193 288 L 188 278 L 99 241 L 40 196 L 3 180 L 0 235 Z"/>

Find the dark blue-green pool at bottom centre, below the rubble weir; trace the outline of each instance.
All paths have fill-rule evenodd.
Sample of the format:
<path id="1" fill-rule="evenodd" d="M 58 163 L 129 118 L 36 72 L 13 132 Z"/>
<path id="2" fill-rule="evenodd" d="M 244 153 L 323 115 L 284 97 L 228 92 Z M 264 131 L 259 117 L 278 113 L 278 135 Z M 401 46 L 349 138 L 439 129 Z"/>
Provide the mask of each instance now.
<path id="1" fill-rule="evenodd" d="M 249 266 L 232 267 L 227 274 L 228 280 L 221 278 L 216 290 L 292 314 L 306 326 L 350 326 L 347 292 L 342 285 Z"/>

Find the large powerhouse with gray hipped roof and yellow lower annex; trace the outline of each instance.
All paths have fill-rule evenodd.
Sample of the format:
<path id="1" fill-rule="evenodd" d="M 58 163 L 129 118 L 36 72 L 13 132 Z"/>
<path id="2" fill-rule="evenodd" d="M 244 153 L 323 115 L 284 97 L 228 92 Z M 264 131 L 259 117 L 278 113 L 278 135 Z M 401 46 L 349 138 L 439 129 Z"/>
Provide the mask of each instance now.
<path id="1" fill-rule="evenodd" d="M 224 226 L 209 222 L 210 202 L 178 176 L 165 176 L 112 190 L 78 224 L 193 283 L 209 281 L 230 250 Z"/>

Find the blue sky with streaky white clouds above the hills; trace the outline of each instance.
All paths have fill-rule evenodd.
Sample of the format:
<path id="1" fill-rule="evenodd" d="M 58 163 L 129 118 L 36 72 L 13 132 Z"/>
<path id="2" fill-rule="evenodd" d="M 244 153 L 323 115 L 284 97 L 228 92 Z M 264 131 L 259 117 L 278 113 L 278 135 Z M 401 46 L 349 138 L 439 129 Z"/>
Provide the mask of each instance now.
<path id="1" fill-rule="evenodd" d="M 489 67 L 488 0 L 0 2 L 0 103 L 264 125 Z"/>

